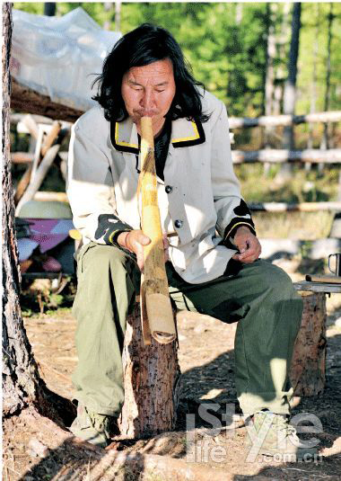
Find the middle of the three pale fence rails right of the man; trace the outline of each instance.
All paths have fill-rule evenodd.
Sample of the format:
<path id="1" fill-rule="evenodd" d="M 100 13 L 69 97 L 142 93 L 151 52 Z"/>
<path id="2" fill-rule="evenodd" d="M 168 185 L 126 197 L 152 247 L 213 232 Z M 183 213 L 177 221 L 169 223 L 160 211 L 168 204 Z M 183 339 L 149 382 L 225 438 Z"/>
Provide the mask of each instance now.
<path id="1" fill-rule="evenodd" d="M 232 150 L 233 164 L 243 164 L 244 162 L 269 162 L 280 164 L 282 162 L 309 162 L 310 164 L 340 164 L 341 148 L 330 148 L 328 150 L 306 149 L 306 150 L 283 150 L 283 149 L 264 149 L 244 152 L 242 150 Z"/>

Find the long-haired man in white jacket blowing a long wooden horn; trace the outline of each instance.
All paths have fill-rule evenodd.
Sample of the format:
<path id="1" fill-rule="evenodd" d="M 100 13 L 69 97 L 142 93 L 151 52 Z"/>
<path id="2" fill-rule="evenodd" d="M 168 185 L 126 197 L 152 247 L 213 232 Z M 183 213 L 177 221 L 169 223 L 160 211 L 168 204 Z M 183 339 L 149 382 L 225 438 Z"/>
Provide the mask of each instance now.
<path id="1" fill-rule="evenodd" d="M 140 122 L 149 116 L 162 228 L 170 242 L 170 297 L 179 309 L 239 321 L 240 407 L 257 431 L 269 416 L 273 420 L 263 452 L 278 452 L 278 432 L 288 441 L 281 452 L 296 452 L 287 374 L 302 300 L 282 270 L 258 259 L 255 227 L 232 169 L 223 102 L 194 80 L 170 33 L 149 24 L 118 41 L 98 82 L 99 106 L 74 124 L 70 145 L 67 192 L 83 236 L 74 300 L 78 412 L 71 431 L 106 445 L 109 423 L 124 401 L 126 318 L 150 242 L 140 229 L 136 196 Z"/>

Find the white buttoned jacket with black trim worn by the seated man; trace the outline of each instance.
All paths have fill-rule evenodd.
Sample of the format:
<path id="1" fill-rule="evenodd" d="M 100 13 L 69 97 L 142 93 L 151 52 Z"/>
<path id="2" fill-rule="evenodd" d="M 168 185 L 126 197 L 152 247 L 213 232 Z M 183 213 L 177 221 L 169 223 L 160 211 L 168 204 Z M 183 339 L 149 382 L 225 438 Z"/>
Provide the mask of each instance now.
<path id="1" fill-rule="evenodd" d="M 162 229 L 178 235 L 170 237 L 170 261 L 190 283 L 221 276 L 236 250 L 218 244 L 239 225 L 254 229 L 233 173 L 226 109 L 209 93 L 202 102 L 211 113 L 205 123 L 172 121 L 164 182 L 158 178 Z M 110 123 L 101 107 L 94 107 L 75 122 L 67 195 L 83 244 L 112 244 L 116 231 L 140 228 L 139 172 L 130 118 Z"/>

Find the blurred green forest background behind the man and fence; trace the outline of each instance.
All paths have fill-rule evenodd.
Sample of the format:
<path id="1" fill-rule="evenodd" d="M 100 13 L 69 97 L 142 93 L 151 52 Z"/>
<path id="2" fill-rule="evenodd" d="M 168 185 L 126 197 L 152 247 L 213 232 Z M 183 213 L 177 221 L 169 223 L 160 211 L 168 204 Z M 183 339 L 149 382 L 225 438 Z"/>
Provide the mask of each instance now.
<path id="1" fill-rule="evenodd" d="M 83 2 L 14 3 L 29 13 L 63 15 L 82 6 L 102 28 L 131 31 L 143 22 L 168 29 L 194 76 L 220 98 L 230 117 L 284 112 L 292 39 L 293 2 Z M 341 109 L 341 3 L 302 3 L 295 114 Z M 234 129 L 233 148 L 284 148 L 283 127 Z M 341 125 L 303 123 L 293 128 L 295 149 L 341 146 Z M 337 200 L 339 166 L 294 165 L 290 182 L 274 183 L 280 165 L 236 165 L 249 201 Z M 262 179 L 262 182 L 255 180 Z M 56 189 L 55 181 L 52 190 Z M 43 190 L 48 187 L 43 185 Z"/>

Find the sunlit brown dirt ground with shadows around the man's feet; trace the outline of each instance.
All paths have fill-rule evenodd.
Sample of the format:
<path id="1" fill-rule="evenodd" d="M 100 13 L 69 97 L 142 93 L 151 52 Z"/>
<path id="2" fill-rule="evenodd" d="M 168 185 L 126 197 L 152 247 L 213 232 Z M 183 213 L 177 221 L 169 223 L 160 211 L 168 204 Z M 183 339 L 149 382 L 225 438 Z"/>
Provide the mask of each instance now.
<path id="1" fill-rule="evenodd" d="M 302 279 L 299 274 L 292 276 L 294 281 Z M 236 324 L 224 325 L 208 316 L 182 313 L 178 321 L 182 378 L 175 432 L 143 441 L 116 441 L 109 450 L 98 450 L 87 443 L 77 443 L 70 432 L 56 429 L 51 420 L 28 409 L 4 421 L 3 479 L 198 479 L 199 475 L 190 474 L 190 468 L 197 467 L 200 479 L 210 477 L 210 481 L 341 479 L 341 295 L 332 295 L 327 302 L 327 385 L 319 396 L 295 397 L 293 407 L 293 414 L 315 414 L 322 423 L 323 432 L 313 434 L 319 439 L 318 459 L 285 463 L 258 456 L 249 460 L 244 446 L 246 428 L 242 422 L 235 423 L 234 431 L 223 429 L 215 436 L 204 435 L 205 424 L 197 414 L 200 404 L 218 405 L 217 414 L 223 414 L 225 405 L 234 405 L 239 413 L 233 380 Z M 42 378 L 52 391 L 70 399 L 71 373 L 77 361 L 75 321 L 71 314 L 30 317 L 25 319 L 25 325 Z M 197 450 L 196 462 L 187 457 L 190 439 L 186 433 L 186 414 L 196 414 L 196 428 L 199 428 L 195 441 L 202 449 Z M 217 447 L 221 455 L 214 458 L 212 453 L 214 448 L 215 453 L 218 452 Z M 160 468 L 161 457 L 170 459 L 170 467 L 172 462 L 176 463 L 175 468 L 172 471 Z M 129 459 L 136 460 L 135 468 Z M 211 469 L 207 471 L 211 474 L 205 477 L 205 469 L 209 468 L 214 468 L 214 475 Z M 170 473 L 173 474 L 170 476 Z"/>

